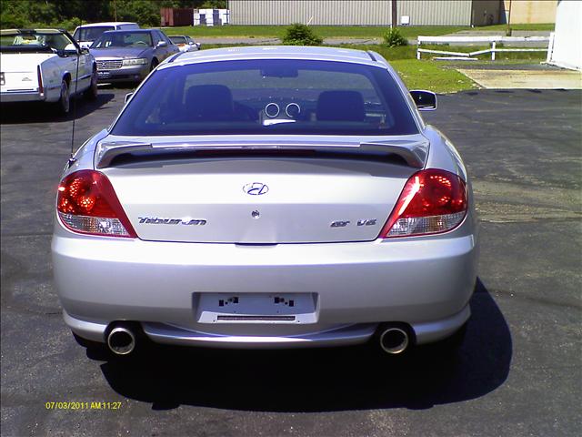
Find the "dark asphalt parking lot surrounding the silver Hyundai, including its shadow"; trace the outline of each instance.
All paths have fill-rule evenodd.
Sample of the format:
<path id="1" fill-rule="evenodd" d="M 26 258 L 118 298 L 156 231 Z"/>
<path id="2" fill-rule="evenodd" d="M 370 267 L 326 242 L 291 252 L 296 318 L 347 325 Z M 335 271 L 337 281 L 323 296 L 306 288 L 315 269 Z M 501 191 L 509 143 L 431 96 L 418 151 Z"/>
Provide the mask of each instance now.
<path id="1" fill-rule="evenodd" d="M 113 120 L 127 92 L 104 87 L 96 102 L 78 102 L 75 147 Z M 72 129 L 53 112 L 2 107 L 3 435 L 582 432 L 582 91 L 475 90 L 424 113 L 473 177 L 481 258 L 457 360 L 426 348 L 404 363 L 359 347 L 158 347 L 124 363 L 77 345 L 52 282 Z M 46 409 L 53 401 L 120 403 Z"/>

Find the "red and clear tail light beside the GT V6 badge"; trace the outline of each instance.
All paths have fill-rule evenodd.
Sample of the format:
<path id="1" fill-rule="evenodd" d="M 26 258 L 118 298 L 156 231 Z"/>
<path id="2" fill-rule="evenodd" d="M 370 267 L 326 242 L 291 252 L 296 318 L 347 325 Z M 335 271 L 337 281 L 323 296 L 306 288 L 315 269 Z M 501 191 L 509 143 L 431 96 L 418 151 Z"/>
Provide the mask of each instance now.
<path id="1" fill-rule="evenodd" d="M 456 228 L 467 214 L 467 186 L 445 170 L 420 170 L 406 182 L 380 232 L 381 239 L 437 234 Z"/>

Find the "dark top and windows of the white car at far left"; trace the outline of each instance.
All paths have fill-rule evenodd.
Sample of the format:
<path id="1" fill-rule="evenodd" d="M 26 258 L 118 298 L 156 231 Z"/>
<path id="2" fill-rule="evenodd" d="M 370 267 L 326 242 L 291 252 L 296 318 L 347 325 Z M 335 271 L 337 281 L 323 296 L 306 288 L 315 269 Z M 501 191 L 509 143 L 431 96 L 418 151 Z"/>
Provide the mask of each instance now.
<path id="1" fill-rule="evenodd" d="M 0 33 L 2 51 L 51 52 L 73 49 L 73 41 L 58 30 L 3 30 Z"/>

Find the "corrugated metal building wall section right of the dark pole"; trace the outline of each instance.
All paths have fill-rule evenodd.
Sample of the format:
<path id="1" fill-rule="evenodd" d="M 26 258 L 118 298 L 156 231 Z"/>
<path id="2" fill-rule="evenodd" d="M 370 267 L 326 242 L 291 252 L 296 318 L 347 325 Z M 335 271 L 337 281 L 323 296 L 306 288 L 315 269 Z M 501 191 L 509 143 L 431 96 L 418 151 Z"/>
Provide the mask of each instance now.
<path id="1" fill-rule="evenodd" d="M 471 3 L 471 0 L 396 0 L 398 25 L 402 15 L 410 16 L 410 25 L 470 25 Z"/>

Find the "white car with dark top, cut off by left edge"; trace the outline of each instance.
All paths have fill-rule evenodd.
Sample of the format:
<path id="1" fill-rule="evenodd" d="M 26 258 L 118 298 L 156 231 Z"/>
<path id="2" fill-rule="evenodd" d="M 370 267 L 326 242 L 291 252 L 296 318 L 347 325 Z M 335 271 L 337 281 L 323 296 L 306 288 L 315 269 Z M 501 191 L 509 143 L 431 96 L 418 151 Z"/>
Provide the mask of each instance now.
<path id="1" fill-rule="evenodd" d="M 57 29 L 0 31 L 0 100 L 57 103 L 68 113 L 70 98 L 97 97 L 95 58 Z M 78 80 L 77 80 L 78 77 Z"/>

